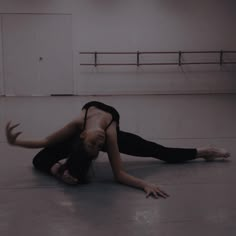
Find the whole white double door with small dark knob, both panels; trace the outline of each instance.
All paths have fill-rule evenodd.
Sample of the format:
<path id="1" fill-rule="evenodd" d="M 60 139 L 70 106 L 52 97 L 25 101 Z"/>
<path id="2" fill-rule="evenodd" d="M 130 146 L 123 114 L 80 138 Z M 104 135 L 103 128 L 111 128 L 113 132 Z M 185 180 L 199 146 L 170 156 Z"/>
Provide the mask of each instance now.
<path id="1" fill-rule="evenodd" d="M 6 94 L 72 94 L 71 37 L 70 15 L 4 15 Z"/>

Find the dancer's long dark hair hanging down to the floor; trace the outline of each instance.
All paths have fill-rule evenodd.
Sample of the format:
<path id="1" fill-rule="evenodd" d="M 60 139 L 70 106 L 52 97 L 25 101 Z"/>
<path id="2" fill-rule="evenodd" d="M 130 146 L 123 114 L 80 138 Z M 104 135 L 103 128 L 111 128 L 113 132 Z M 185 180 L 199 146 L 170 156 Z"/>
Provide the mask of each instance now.
<path id="1" fill-rule="evenodd" d="M 73 177 L 78 178 L 79 183 L 88 183 L 88 172 L 92 161 L 93 158 L 88 155 L 82 139 L 79 138 L 74 145 L 73 153 L 67 159 L 65 166 Z"/>

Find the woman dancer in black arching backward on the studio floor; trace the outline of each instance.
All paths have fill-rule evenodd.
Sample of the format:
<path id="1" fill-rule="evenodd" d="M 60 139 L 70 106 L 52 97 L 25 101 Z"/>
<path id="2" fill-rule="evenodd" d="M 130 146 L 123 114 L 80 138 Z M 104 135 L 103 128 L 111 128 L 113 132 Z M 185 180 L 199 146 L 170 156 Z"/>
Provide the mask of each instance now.
<path id="1" fill-rule="evenodd" d="M 50 136 L 38 140 L 20 140 L 21 132 L 13 133 L 19 125 L 6 126 L 8 143 L 25 148 L 43 148 L 33 159 L 34 166 L 56 176 L 68 184 L 86 181 L 87 173 L 99 151 L 108 153 L 115 180 L 143 189 L 146 196 L 166 198 L 169 195 L 157 186 L 126 173 L 120 153 L 154 157 L 169 163 L 185 162 L 197 158 L 214 160 L 230 154 L 217 148 L 168 148 L 121 131 L 119 113 L 111 106 L 92 101 L 85 104 L 79 117 Z"/>

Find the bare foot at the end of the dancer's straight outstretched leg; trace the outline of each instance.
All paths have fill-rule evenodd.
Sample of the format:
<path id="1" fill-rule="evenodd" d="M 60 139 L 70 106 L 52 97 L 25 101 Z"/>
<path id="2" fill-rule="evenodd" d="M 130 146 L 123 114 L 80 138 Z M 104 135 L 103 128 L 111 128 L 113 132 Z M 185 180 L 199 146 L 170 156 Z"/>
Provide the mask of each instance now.
<path id="1" fill-rule="evenodd" d="M 228 158 L 230 153 L 223 148 L 198 148 L 197 157 L 203 158 L 206 161 L 214 161 L 216 158 Z"/>

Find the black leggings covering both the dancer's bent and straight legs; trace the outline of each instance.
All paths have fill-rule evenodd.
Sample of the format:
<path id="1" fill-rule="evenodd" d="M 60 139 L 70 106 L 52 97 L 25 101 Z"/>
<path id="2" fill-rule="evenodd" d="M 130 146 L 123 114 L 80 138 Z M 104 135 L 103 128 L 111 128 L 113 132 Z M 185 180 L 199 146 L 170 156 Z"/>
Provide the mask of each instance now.
<path id="1" fill-rule="evenodd" d="M 76 163 L 76 157 L 79 155 L 76 144 L 79 136 L 80 134 L 77 134 L 64 142 L 42 149 L 33 159 L 35 168 L 50 174 L 51 167 L 61 159 L 70 158 L 72 163 Z M 185 162 L 193 160 L 197 156 L 196 149 L 164 147 L 138 135 L 120 130 L 117 131 L 117 139 L 120 153 L 131 156 L 153 157 L 168 163 Z M 102 151 L 106 152 L 105 149 Z M 71 168 L 74 169 L 76 166 Z"/>

